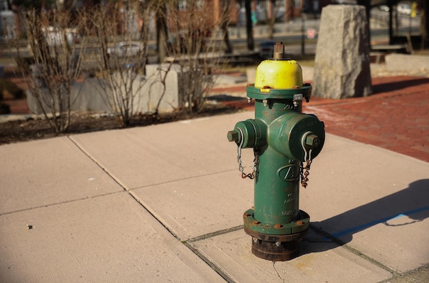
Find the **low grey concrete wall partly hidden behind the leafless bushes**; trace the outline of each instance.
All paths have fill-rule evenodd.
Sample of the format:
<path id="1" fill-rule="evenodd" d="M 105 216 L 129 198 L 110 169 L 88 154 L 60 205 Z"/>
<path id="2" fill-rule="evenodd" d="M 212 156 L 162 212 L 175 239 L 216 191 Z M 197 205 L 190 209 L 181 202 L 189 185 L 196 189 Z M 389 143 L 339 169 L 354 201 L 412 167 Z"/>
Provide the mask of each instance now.
<path id="1" fill-rule="evenodd" d="M 165 77 L 164 90 L 164 85 L 160 81 L 164 79 L 167 69 L 169 69 L 169 72 L 167 77 Z M 154 112 L 159 102 L 158 111 L 163 113 L 171 112 L 181 107 L 180 102 L 183 96 L 183 87 L 191 83 L 186 78 L 186 72 L 182 72 L 179 66 L 173 65 L 169 68 L 169 64 L 156 64 L 147 65 L 146 74 L 146 76 L 136 75 L 136 79 L 132 81 L 132 89 L 135 93 L 134 113 Z M 121 75 L 114 73 L 112 79 L 116 80 L 117 85 L 123 88 L 120 93 L 125 93 L 125 81 L 121 79 Z M 108 99 L 112 99 L 112 95 L 108 93 L 110 92 L 108 87 L 101 87 L 100 84 L 103 83 L 102 79 L 97 78 L 88 78 L 84 83 L 74 83 L 71 90 L 71 110 L 110 113 L 111 109 Z M 130 81 L 126 83 L 130 83 Z M 45 87 L 42 87 L 42 92 L 45 92 L 45 100 L 49 101 L 50 96 Z M 164 94 L 162 94 L 163 92 Z M 56 104 L 57 109 L 59 109 L 58 102 Z M 41 107 L 36 98 L 29 92 L 27 92 L 27 105 L 32 113 L 41 114 L 42 107 L 50 113 L 46 103 Z M 63 109 L 65 109 L 65 103 Z"/>

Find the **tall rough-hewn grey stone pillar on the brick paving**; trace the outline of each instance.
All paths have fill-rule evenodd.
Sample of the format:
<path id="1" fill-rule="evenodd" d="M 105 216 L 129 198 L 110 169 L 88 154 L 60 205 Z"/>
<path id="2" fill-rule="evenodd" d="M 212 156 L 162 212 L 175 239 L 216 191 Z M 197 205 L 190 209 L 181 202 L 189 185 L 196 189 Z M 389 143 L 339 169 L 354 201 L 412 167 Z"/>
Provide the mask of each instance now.
<path id="1" fill-rule="evenodd" d="M 341 99 L 371 94 L 368 36 L 364 6 L 323 8 L 312 95 Z"/>

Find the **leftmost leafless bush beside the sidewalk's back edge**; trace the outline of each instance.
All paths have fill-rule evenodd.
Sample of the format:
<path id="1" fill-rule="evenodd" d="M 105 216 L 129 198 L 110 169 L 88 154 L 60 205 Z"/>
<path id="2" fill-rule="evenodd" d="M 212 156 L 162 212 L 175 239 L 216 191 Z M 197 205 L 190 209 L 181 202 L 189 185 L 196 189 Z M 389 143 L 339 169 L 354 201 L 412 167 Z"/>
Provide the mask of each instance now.
<path id="1" fill-rule="evenodd" d="M 81 73 L 85 42 L 75 44 L 79 17 L 73 21 L 70 14 L 57 10 L 23 10 L 21 19 L 32 55 L 30 64 L 19 46 L 19 38 L 9 44 L 17 54 L 19 72 L 23 76 L 29 94 L 36 101 L 38 111 L 53 131 L 67 131 L 71 124 L 72 87 Z M 77 26 L 76 29 L 69 28 Z"/>

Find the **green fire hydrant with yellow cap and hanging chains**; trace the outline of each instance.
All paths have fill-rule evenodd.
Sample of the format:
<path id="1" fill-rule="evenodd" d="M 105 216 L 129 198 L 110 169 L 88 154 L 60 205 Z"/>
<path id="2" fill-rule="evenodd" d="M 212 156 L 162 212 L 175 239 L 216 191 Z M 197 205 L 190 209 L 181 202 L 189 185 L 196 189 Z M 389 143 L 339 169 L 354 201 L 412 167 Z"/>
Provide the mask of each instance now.
<path id="1" fill-rule="evenodd" d="M 259 258 L 295 258 L 308 231 L 310 216 L 299 210 L 299 183 L 307 186 L 312 159 L 325 142 L 323 122 L 302 113 L 302 101 L 309 102 L 310 96 L 301 66 L 284 58 L 278 42 L 273 59 L 259 64 L 255 83 L 247 86 L 249 101 L 255 100 L 255 119 L 237 122 L 227 135 L 237 144 L 242 178 L 254 179 L 254 206 L 243 219 L 252 253 Z M 252 173 L 244 172 L 242 148 L 254 149 Z"/>

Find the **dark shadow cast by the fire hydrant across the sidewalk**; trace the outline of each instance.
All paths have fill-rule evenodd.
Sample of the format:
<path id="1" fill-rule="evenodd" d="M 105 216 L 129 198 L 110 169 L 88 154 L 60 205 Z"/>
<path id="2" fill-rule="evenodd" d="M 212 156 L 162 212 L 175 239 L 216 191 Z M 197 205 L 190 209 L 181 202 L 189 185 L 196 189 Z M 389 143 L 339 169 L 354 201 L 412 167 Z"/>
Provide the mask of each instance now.
<path id="1" fill-rule="evenodd" d="M 349 243 L 353 234 L 384 224 L 393 229 L 423 221 L 429 217 L 429 179 L 410 183 L 406 189 L 358 206 L 329 219 L 311 222 L 310 232 L 301 243 L 302 254 L 332 250 Z M 393 221 L 408 217 L 404 221 Z M 400 222 L 400 224 L 394 224 Z M 317 244 L 321 243 L 321 244 Z"/>

